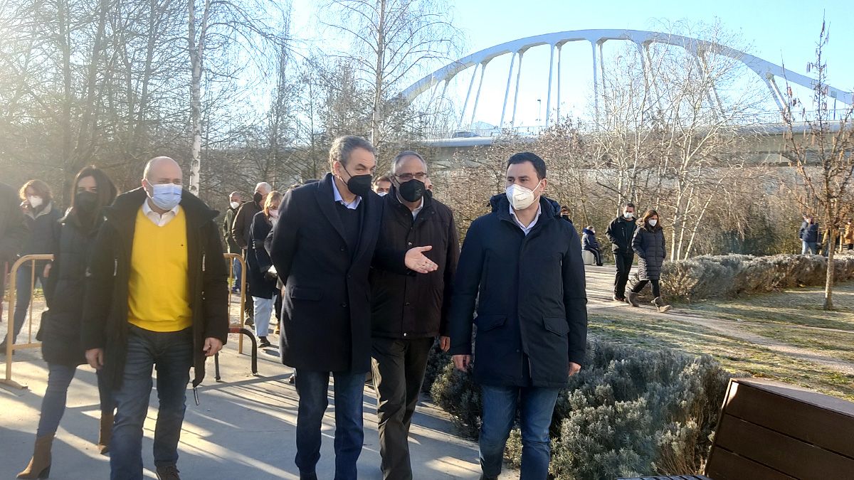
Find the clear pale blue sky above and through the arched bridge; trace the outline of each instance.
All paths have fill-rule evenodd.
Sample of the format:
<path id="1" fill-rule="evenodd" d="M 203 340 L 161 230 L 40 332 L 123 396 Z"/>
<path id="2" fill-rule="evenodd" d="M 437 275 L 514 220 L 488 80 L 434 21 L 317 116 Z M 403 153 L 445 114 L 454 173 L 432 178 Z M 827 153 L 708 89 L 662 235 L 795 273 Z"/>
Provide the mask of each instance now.
<path id="1" fill-rule="evenodd" d="M 293 1 L 295 35 L 313 40 L 325 50 L 333 45 L 330 32 L 317 26 L 319 2 Z M 453 23 L 465 35 L 465 44 L 461 49 L 463 56 L 495 44 L 541 33 L 597 28 L 656 30 L 661 21 L 713 23 L 717 19 L 729 32 L 740 36 L 741 44 L 732 46 L 741 47 L 752 55 L 776 64 L 785 61 L 787 68 L 798 73 L 806 73 L 806 63 L 814 59 L 816 39 L 824 15 L 830 28 L 830 44 L 825 51 L 829 83 L 847 91 L 854 90 L 852 0 L 451 0 L 451 4 Z M 589 52 L 589 46 L 585 45 L 585 48 Z M 534 50 L 525 56 L 525 63 L 530 67 L 524 69 L 520 81 L 517 123 L 527 125 L 541 120 L 541 108 L 546 102 L 544 82 L 547 81 L 548 51 L 547 48 L 538 53 Z M 586 55 L 589 56 L 589 53 Z M 482 104 L 478 107 L 478 117 L 482 117 L 483 112 L 483 118 L 479 120 L 492 123 L 498 121 L 509 66 L 509 56 L 506 57 L 507 65 L 501 65 L 496 60 L 488 68 Z M 577 72 L 577 79 L 567 79 L 573 73 L 571 67 L 568 71 L 562 70 L 564 79 L 567 79 L 564 82 L 569 82 L 562 84 L 564 111 L 577 111 L 587 101 L 583 97 L 589 95 L 589 92 L 582 95 L 578 91 L 582 90 L 579 85 L 590 83 L 589 68 L 589 65 L 579 67 L 583 72 Z M 449 91 L 457 91 L 459 96 L 465 97 L 471 73 L 462 73 L 459 77 L 459 85 L 454 85 Z M 573 85 L 578 87 L 575 89 L 575 97 L 565 93 L 572 91 Z M 541 102 L 536 102 L 538 98 Z"/>

